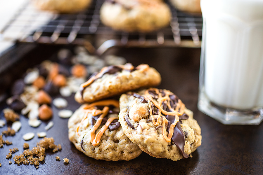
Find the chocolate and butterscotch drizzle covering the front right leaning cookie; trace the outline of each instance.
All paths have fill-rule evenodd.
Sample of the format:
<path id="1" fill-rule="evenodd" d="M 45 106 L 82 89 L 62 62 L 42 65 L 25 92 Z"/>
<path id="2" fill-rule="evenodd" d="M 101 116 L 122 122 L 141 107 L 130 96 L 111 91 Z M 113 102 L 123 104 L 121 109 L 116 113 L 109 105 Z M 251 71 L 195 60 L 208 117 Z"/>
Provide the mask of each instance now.
<path id="1" fill-rule="evenodd" d="M 189 155 L 184 152 L 185 134 L 180 125 L 181 120 L 186 120 L 189 118 L 189 116 L 184 113 L 185 105 L 176 95 L 174 95 L 169 90 L 150 88 L 145 91 L 145 95 L 143 98 L 147 99 L 148 101 L 150 108 L 150 118 L 153 124 L 155 126 L 158 126 L 162 118 L 162 131 L 165 140 L 167 142 L 171 142 L 172 140 L 174 144 L 179 148 L 179 151 L 183 155 L 183 157 L 188 158 Z M 158 108 L 157 112 L 154 112 L 154 107 Z M 155 119 L 153 115 L 158 115 L 157 119 Z M 165 124 L 167 122 L 168 136 L 165 134 Z"/>

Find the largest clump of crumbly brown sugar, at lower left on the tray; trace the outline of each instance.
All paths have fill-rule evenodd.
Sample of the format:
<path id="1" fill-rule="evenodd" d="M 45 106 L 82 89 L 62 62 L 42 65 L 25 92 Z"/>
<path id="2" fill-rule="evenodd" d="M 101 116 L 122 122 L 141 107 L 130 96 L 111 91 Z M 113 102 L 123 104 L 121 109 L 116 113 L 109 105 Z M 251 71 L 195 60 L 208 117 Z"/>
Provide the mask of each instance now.
<path id="1" fill-rule="evenodd" d="M 46 156 L 46 149 L 53 149 L 53 152 L 57 152 L 58 150 L 61 150 L 61 145 L 55 145 L 54 139 L 44 137 L 44 139 L 40 140 L 39 143 L 37 143 L 37 147 L 33 147 L 31 150 L 26 149 L 23 151 L 23 154 L 15 155 L 13 157 L 13 160 L 16 164 L 34 164 L 37 166 L 38 169 L 39 162 L 42 162 L 45 159 Z M 23 147 L 25 148 L 28 146 L 24 143 Z M 29 147 L 29 146 L 28 146 Z"/>

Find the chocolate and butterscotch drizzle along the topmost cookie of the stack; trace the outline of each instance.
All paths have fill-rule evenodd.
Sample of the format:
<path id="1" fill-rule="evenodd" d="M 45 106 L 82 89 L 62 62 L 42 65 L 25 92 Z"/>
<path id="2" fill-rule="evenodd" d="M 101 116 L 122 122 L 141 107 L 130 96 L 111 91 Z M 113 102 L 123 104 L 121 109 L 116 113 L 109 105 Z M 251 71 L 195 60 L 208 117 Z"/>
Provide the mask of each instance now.
<path id="1" fill-rule="evenodd" d="M 83 99 L 83 93 L 84 93 L 85 88 L 88 87 L 91 83 L 93 83 L 98 78 L 101 78 L 105 74 L 115 74 L 117 72 L 121 72 L 122 70 L 133 72 L 133 71 L 135 71 L 137 69 L 141 69 L 141 68 L 142 69 L 148 69 L 149 65 L 141 64 L 137 67 L 134 67 L 132 64 L 125 64 L 125 65 L 118 65 L 118 66 L 113 65 L 113 66 L 103 67 L 98 74 L 92 75 L 88 79 L 88 81 L 86 81 L 85 83 L 80 85 L 80 95 Z"/>

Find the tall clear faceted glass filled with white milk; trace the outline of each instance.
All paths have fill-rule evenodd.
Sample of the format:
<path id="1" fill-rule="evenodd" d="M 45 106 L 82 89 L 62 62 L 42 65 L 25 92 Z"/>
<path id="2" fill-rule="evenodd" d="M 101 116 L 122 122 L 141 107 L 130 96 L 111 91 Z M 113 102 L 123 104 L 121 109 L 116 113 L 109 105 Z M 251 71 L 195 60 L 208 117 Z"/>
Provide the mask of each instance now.
<path id="1" fill-rule="evenodd" d="M 263 120 L 263 0 L 201 0 L 198 109 L 223 124 Z"/>

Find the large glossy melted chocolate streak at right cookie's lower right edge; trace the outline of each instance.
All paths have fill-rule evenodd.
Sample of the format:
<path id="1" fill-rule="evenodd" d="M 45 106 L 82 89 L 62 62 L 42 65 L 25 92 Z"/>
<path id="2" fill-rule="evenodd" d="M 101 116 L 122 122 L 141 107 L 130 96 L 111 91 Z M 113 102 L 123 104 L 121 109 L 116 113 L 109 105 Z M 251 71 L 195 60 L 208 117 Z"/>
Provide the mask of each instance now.
<path id="1" fill-rule="evenodd" d="M 187 159 L 189 155 L 187 155 L 184 152 L 185 135 L 179 122 L 177 122 L 177 124 L 174 127 L 174 134 L 172 136 L 172 141 L 179 148 L 179 151 L 183 155 L 183 157 Z"/>

